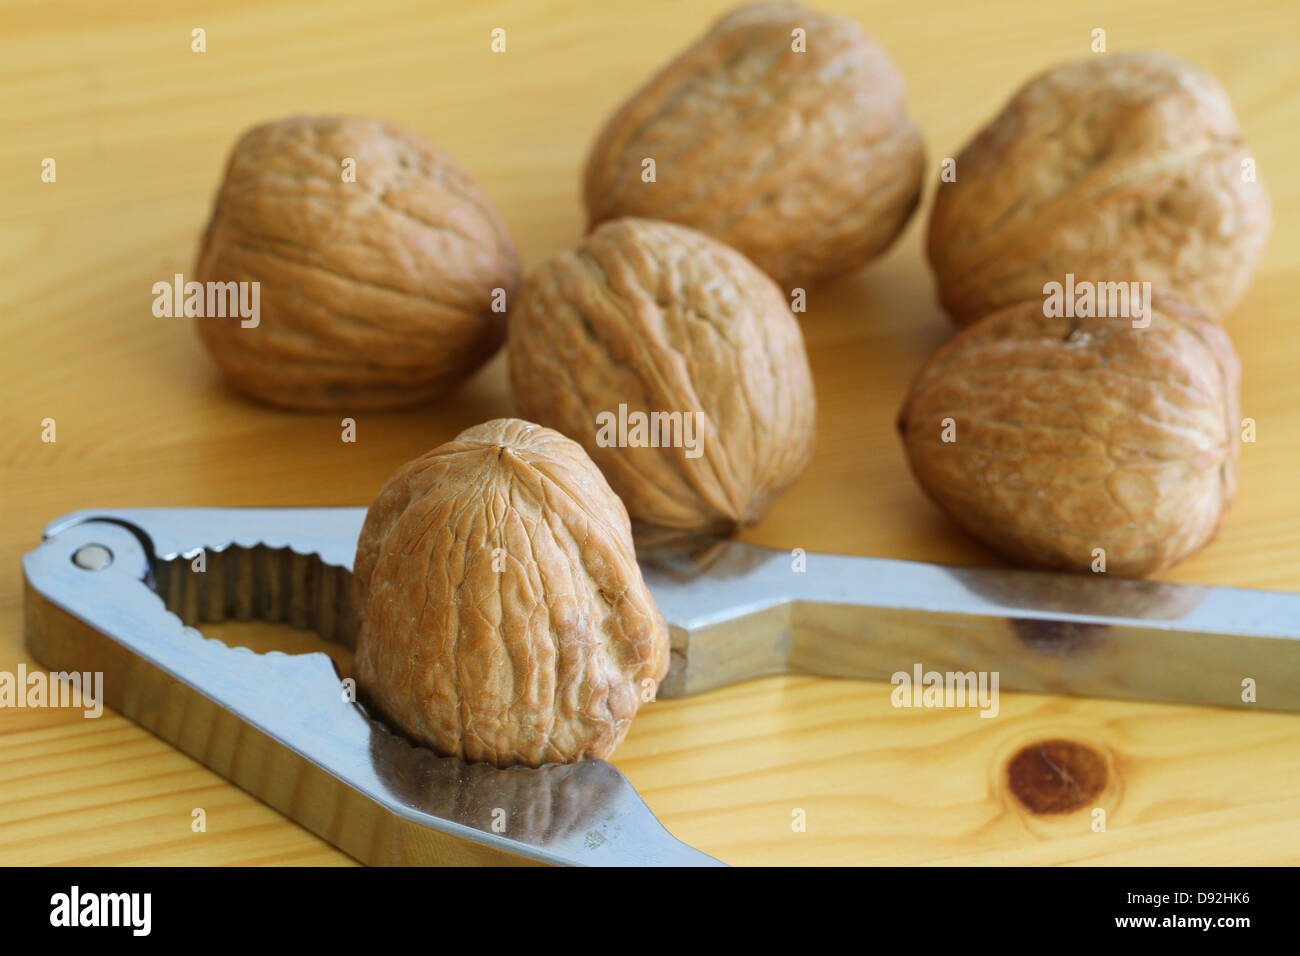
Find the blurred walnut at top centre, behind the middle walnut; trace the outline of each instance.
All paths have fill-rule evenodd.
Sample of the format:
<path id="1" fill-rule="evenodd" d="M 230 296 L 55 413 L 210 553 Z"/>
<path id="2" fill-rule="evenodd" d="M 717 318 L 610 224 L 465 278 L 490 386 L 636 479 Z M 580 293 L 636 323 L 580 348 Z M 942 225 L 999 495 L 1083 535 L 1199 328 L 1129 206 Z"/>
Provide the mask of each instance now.
<path id="1" fill-rule="evenodd" d="M 606 122 L 588 215 L 699 229 L 785 289 L 849 272 L 893 242 L 920 196 L 924 148 L 904 96 L 855 21 L 741 7 Z"/>

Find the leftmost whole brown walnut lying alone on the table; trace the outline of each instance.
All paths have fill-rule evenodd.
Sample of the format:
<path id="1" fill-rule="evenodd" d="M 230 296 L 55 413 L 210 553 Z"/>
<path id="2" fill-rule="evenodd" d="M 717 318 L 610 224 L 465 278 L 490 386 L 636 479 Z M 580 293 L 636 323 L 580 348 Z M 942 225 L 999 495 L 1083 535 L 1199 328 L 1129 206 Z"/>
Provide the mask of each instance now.
<path id="1" fill-rule="evenodd" d="M 204 316 L 199 332 L 235 389 L 302 410 L 446 392 L 500 347 L 519 285 L 504 222 L 451 156 L 332 116 L 243 135 L 195 268 L 200 282 L 260 284 L 256 324 Z"/>

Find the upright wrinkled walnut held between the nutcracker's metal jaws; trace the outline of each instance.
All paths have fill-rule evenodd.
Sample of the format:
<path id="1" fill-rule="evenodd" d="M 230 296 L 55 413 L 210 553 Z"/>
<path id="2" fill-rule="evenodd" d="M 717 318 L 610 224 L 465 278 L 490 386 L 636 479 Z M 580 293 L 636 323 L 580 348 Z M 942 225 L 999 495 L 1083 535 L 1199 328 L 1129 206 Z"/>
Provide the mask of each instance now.
<path id="1" fill-rule="evenodd" d="M 363 700 L 447 757 L 606 757 L 642 682 L 668 670 L 627 511 L 578 445 L 526 421 L 398 470 L 367 514 L 352 597 Z"/>

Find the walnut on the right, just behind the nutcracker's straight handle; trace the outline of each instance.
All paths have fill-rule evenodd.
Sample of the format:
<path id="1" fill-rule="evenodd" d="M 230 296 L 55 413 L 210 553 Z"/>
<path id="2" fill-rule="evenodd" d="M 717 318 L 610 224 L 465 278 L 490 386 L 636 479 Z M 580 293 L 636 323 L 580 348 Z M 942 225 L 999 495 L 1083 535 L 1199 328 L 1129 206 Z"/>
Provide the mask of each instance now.
<path id="1" fill-rule="evenodd" d="M 1004 557 L 1145 575 L 1213 538 L 1236 489 L 1239 367 L 1223 330 L 1169 298 L 1150 326 L 1048 319 L 1041 299 L 970 326 L 900 415 L 920 485 Z M 942 421 L 956 423 L 944 442 Z"/>

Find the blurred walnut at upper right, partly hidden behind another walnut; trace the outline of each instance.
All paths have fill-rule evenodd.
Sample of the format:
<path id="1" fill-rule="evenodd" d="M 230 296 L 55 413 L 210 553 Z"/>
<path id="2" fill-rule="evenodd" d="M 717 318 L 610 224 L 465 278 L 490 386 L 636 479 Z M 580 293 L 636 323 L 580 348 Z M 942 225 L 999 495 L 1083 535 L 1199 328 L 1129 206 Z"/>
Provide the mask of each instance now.
<path id="1" fill-rule="evenodd" d="M 941 182 L 928 252 L 966 324 L 1045 282 L 1149 281 L 1218 319 L 1245 294 L 1271 229 L 1243 182 L 1232 107 L 1164 53 L 1108 53 L 1032 81 Z"/>

